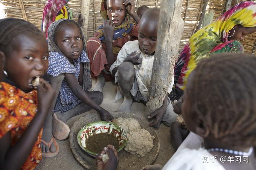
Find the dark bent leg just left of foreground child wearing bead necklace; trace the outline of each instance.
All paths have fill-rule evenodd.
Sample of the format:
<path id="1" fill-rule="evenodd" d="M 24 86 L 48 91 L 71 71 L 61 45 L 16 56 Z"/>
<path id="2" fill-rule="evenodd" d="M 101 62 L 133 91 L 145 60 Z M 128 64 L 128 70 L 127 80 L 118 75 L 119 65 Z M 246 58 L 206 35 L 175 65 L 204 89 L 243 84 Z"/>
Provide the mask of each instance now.
<path id="1" fill-rule="evenodd" d="M 189 131 L 187 129 L 183 129 L 181 127 L 180 122 L 174 121 L 171 124 L 171 127 L 170 127 L 171 142 L 175 151 L 177 151 L 178 147 L 185 140 L 188 134 L 189 134 Z"/>

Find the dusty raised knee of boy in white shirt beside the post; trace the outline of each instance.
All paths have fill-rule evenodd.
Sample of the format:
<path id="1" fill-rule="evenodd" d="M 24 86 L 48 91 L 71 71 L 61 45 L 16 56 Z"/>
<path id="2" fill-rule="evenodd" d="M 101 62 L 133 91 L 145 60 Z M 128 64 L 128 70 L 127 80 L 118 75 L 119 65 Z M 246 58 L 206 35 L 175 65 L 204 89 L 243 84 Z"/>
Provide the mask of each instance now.
<path id="1" fill-rule="evenodd" d="M 118 75 L 124 79 L 134 77 L 134 66 L 131 62 L 122 62 L 118 67 Z"/>

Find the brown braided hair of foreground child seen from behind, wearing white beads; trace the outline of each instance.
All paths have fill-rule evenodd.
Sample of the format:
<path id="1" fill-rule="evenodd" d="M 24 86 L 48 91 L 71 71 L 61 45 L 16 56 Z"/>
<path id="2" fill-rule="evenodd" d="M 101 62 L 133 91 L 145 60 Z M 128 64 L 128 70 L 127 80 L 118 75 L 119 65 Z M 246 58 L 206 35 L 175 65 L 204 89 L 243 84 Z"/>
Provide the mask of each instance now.
<path id="1" fill-rule="evenodd" d="M 192 112 L 210 135 L 230 146 L 256 145 L 256 57 L 222 54 L 203 59 L 186 88 Z"/>

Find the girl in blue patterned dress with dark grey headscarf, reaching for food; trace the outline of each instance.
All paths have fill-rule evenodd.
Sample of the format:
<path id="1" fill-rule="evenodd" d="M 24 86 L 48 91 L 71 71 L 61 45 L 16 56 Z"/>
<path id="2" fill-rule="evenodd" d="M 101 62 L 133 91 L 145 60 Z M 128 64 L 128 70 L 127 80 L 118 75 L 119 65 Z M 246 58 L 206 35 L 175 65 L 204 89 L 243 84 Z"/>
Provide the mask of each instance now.
<path id="1" fill-rule="evenodd" d="M 68 133 L 63 135 L 56 132 L 58 130 L 62 132 L 63 129 L 61 127 L 54 128 L 55 124 L 63 125 L 69 118 L 81 114 L 75 110 L 66 112 L 81 102 L 85 107 L 83 112 L 93 108 L 100 114 L 101 120 L 111 121 L 113 119 L 111 114 L 98 105 L 103 100 L 102 93 L 88 91 L 91 88 L 90 61 L 79 24 L 70 19 L 53 22 L 48 29 L 48 40 L 50 56 L 47 73 L 52 77 L 57 77 L 60 74 L 65 76 L 54 108 L 55 111 L 58 111 L 53 114 L 54 136 L 59 140 L 68 137 L 69 129 Z"/>

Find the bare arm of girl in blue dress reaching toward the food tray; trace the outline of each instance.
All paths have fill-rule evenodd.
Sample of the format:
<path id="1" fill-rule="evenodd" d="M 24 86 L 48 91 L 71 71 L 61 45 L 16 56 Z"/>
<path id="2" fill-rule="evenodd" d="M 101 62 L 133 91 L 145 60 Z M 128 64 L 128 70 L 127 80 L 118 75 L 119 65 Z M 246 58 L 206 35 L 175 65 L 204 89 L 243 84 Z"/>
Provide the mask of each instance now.
<path id="1" fill-rule="evenodd" d="M 101 120 L 103 121 L 111 121 L 113 120 L 113 117 L 108 111 L 100 107 L 97 103 L 95 103 L 82 88 L 79 86 L 78 80 L 76 80 L 76 77 L 74 74 L 71 73 L 64 73 L 65 79 L 68 83 L 68 86 L 74 93 L 76 97 L 79 98 L 83 103 L 87 104 L 91 108 L 95 109 L 101 117 Z"/>

